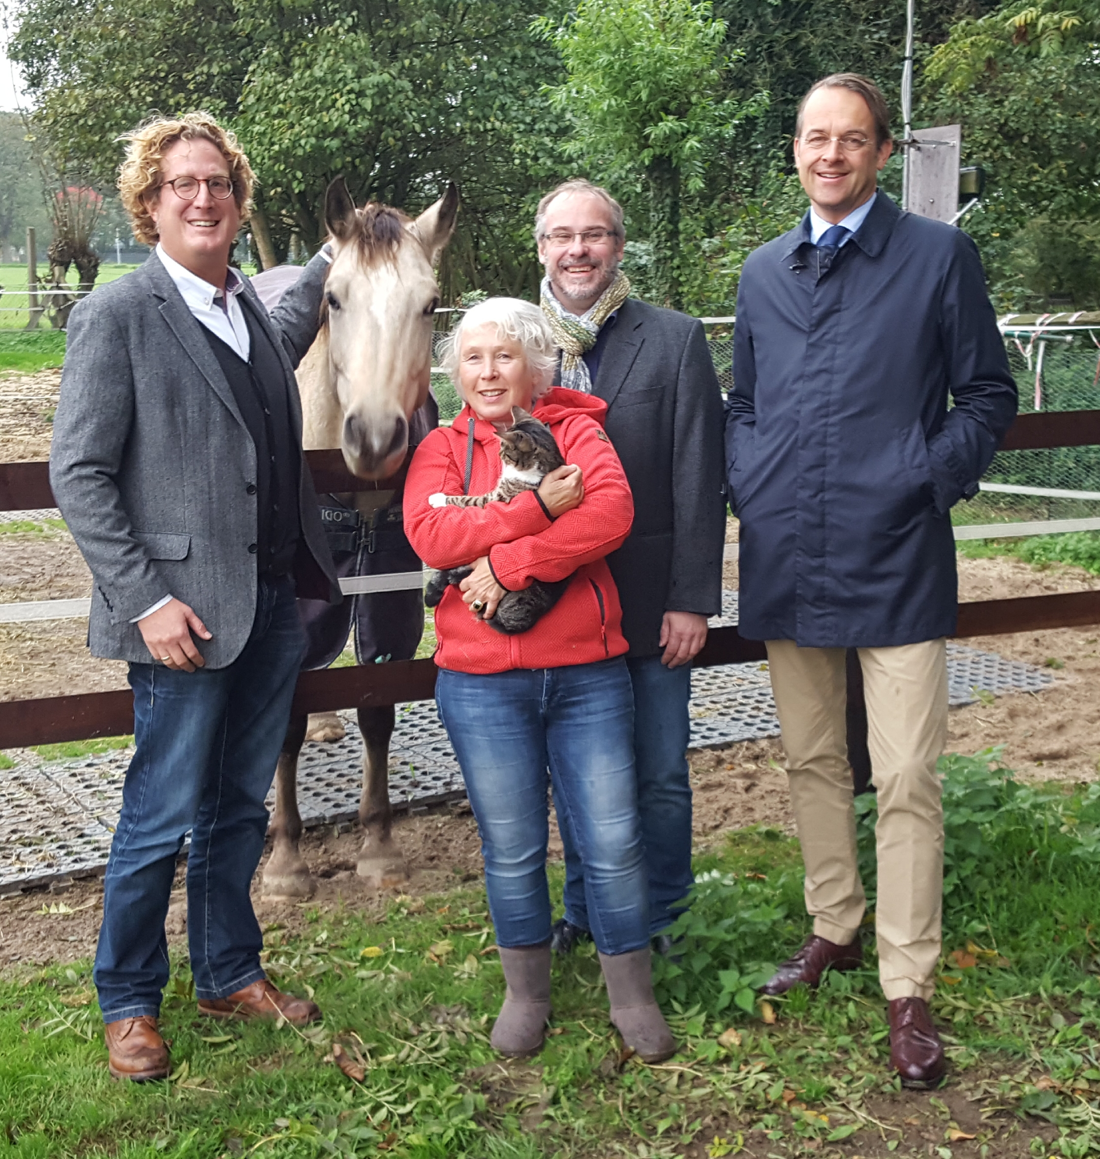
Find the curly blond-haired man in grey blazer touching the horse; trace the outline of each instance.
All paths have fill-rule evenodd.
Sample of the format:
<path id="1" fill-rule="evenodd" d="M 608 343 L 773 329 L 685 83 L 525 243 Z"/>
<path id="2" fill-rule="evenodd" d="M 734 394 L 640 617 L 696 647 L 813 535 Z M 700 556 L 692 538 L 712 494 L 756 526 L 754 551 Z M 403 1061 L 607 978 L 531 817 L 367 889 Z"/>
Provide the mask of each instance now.
<path id="1" fill-rule="evenodd" d="M 249 887 L 304 650 L 296 595 L 340 599 L 301 451 L 293 369 L 318 255 L 272 316 L 228 264 L 253 172 L 206 114 L 129 133 L 133 274 L 68 323 L 50 480 L 94 580 L 88 644 L 125 659 L 137 751 L 103 884 L 95 984 L 110 1073 L 163 1078 L 165 918 L 188 832 L 199 1012 L 306 1023 L 260 965 Z"/>

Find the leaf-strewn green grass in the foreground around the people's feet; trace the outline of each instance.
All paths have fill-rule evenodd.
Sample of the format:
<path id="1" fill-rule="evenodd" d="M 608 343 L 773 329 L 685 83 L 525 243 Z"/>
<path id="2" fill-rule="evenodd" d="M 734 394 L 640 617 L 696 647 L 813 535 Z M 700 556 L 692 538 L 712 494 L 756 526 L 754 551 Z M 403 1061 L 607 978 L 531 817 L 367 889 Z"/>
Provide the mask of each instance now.
<path id="1" fill-rule="evenodd" d="M 163 1084 L 108 1079 L 88 963 L 0 976 L 0 1154 L 1093 1154 L 1097 795 L 1018 786 L 995 757 L 945 765 L 948 870 L 978 862 L 948 894 L 933 1005 L 952 1073 L 939 1094 L 898 1094 L 873 953 L 816 993 L 744 1000 L 740 983 L 808 928 L 796 844 L 746 830 L 698 859 L 684 957 L 658 983 L 683 1047 L 661 1067 L 619 1055 L 591 946 L 555 962 L 559 1033 L 541 1055 L 495 1059 L 503 983 L 480 889 L 399 898 L 377 921 L 305 903 L 305 932 L 269 926 L 264 961 L 316 997 L 323 1026 L 204 1022 L 174 956 Z M 362 1062 L 362 1081 L 334 1065 L 334 1044 Z M 974 1125 L 960 1132 L 964 1115 Z"/>

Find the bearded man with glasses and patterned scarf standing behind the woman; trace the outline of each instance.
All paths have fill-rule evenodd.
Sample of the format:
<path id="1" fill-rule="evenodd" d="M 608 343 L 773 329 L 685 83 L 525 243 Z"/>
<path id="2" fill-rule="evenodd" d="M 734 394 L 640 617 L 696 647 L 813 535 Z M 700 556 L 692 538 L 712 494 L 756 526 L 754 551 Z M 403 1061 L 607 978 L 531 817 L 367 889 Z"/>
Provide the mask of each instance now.
<path id="1" fill-rule="evenodd" d="M 558 384 L 607 403 L 604 428 L 634 496 L 629 538 L 607 563 L 629 643 L 649 927 L 666 952 L 663 931 L 693 880 L 691 661 L 706 642 L 707 617 L 722 607 L 722 395 L 702 323 L 631 297 L 619 269 L 622 210 L 605 189 L 559 185 L 539 203 L 534 235 L 546 270 L 542 311 L 561 348 Z M 554 945 L 568 953 L 591 926 L 574 828 L 556 806 L 566 914 Z"/>

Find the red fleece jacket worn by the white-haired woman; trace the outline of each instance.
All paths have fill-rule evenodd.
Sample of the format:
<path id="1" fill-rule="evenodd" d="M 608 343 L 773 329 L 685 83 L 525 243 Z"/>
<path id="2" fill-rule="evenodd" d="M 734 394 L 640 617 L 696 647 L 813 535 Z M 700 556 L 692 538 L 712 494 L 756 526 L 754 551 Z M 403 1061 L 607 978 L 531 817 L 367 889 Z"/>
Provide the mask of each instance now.
<path id="1" fill-rule="evenodd" d="M 464 407 L 453 427 L 421 443 L 405 483 L 405 530 L 416 554 L 432 568 L 457 568 L 489 556 L 509 591 L 532 580 L 573 576 L 561 599 L 530 630 L 508 636 L 476 620 L 456 586 L 436 608 L 436 663 L 457 672 L 507 672 L 515 668 L 561 668 L 621 656 L 627 650 L 622 611 L 604 556 L 626 539 L 634 501 L 622 465 L 604 435 L 607 404 L 578 391 L 555 387 L 534 407 L 554 432 L 566 462 L 584 473 L 584 498 L 551 520 L 533 491 L 511 503 L 483 508 L 428 504 L 428 496 L 462 494 L 473 411 Z M 474 423 L 469 494 L 491 491 L 501 478 L 500 440 L 490 423 Z"/>

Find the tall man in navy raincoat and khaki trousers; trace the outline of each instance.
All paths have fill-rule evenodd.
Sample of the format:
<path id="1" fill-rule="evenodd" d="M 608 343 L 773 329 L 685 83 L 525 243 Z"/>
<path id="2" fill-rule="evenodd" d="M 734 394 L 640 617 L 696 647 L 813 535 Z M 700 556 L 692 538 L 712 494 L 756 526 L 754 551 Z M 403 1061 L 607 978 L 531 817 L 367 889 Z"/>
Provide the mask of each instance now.
<path id="1" fill-rule="evenodd" d="M 950 509 L 1017 409 L 974 242 L 876 191 L 882 94 L 851 73 L 799 112 L 801 224 L 745 262 L 726 455 L 741 519 L 741 634 L 767 642 L 814 935 L 764 987 L 861 961 L 845 735 L 859 649 L 879 795 L 876 933 L 902 1081 L 944 1073 L 928 1014 L 940 954 Z M 949 400 L 954 407 L 949 408 Z"/>

